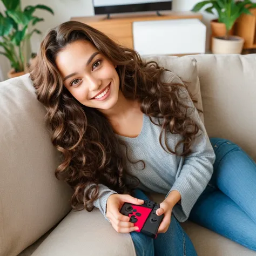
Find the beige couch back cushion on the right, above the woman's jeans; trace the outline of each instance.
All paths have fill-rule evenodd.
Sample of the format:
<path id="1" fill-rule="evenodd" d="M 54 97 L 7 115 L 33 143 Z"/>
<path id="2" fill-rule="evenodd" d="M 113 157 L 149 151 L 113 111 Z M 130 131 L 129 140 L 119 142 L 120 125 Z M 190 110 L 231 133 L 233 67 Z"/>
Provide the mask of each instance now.
<path id="1" fill-rule="evenodd" d="M 256 161 L 256 54 L 194 58 L 208 135 L 232 140 Z"/>

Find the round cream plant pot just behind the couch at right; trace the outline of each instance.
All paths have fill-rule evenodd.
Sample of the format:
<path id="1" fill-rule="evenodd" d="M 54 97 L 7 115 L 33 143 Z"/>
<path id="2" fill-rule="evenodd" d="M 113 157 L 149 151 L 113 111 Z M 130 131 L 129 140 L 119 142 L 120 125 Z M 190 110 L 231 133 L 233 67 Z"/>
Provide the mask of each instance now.
<path id="1" fill-rule="evenodd" d="M 244 38 L 239 36 L 230 36 L 228 39 L 224 37 L 212 38 L 212 53 L 213 54 L 240 54 Z"/>

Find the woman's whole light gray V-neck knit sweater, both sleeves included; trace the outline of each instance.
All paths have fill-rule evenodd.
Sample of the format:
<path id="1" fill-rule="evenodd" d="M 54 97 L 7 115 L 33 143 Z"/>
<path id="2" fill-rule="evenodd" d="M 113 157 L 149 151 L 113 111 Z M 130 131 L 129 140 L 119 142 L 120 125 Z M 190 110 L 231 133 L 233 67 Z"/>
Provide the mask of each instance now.
<path id="1" fill-rule="evenodd" d="M 180 222 L 187 220 L 193 205 L 204 191 L 212 176 L 215 160 L 213 148 L 196 109 L 192 111 L 191 117 L 199 125 L 200 131 L 192 146 L 192 153 L 188 157 L 177 157 L 167 153 L 159 143 L 161 128 L 152 124 L 150 118 L 145 114 L 143 114 L 142 131 L 138 137 L 129 138 L 117 135 L 119 139 L 126 142 L 127 156 L 130 160 L 126 161 L 126 167 L 131 174 L 140 179 L 139 188 L 141 190 L 163 193 L 166 197 L 172 190 L 179 191 L 181 203 L 176 204 L 172 212 Z M 156 118 L 153 120 L 157 121 Z M 174 150 L 180 139 L 179 134 L 169 132 L 167 144 Z M 162 142 L 165 145 L 164 139 Z M 120 147 L 126 156 L 125 146 Z M 180 146 L 179 152 L 182 150 L 183 145 Z M 143 169 L 142 161 L 136 164 L 131 163 L 138 160 L 144 161 L 145 169 Z M 105 218 L 106 201 L 113 193 L 116 192 L 100 184 L 100 198 L 93 203 Z"/>

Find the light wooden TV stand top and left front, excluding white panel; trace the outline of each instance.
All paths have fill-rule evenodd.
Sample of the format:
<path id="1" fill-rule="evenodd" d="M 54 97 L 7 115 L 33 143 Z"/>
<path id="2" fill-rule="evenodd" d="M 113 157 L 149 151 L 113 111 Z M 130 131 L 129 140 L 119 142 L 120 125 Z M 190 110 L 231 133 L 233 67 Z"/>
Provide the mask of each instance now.
<path id="1" fill-rule="evenodd" d="M 157 14 L 157 15 L 156 15 Z M 159 21 L 164 19 L 199 19 L 203 15 L 191 11 L 131 12 L 125 14 L 95 15 L 91 17 L 72 17 L 71 21 L 86 23 L 102 31 L 119 44 L 133 49 L 133 22 Z"/>

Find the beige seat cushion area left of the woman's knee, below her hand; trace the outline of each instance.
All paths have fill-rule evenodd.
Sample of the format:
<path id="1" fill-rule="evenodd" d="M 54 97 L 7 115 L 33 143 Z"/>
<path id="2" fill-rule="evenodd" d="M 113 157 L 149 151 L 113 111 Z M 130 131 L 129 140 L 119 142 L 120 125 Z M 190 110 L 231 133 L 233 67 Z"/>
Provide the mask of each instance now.
<path id="1" fill-rule="evenodd" d="M 102 213 L 71 211 L 32 256 L 136 256 L 129 233 L 117 233 Z"/>

